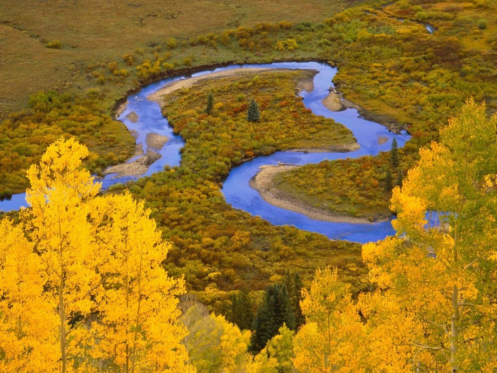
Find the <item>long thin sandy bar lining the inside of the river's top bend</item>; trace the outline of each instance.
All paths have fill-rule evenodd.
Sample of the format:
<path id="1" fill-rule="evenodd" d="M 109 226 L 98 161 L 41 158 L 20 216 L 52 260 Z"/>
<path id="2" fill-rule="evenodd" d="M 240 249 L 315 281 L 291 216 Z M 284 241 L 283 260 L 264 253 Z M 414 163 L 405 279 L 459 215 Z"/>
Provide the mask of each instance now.
<path id="1" fill-rule="evenodd" d="M 295 71 L 295 70 L 305 70 L 305 71 L 312 71 L 315 72 L 316 74 L 318 73 L 317 70 L 312 70 L 312 69 L 274 69 L 274 68 L 251 68 L 251 67 L 244 67 L 240 69 L 231 69 L 231 70 L 225 70 L 225 71 L 218 71 L 217 73 L 211 73 L 211 74 L 206 74 L 202 75 L 200 77 L 196 78 L 188 78 L 188 79 L 183 79 L 183 80 L 178 80 L 175 82 L 171 82 L 169 84 L 166 84 L 163 88 L 160 90 L 149 94 L 147 98 L 151 101 L 155 101 L 158 103 L 161 103 L 161 97 L 172 93 L 174 91 L 183 89 L 183 88 L 189 88 L 192 87 L 193 85 L 200 83 L 202 81 L 206 80 L 214 80 L 214 79 L 222 79 L 222 78 L 230 78 L 230 77 L 235 77 L 238 75 L 246 75 L 248 73 L 263 73 L 267 71 Z M 307 79 L 304 79 L 303 81 L 306 81 Z M 305 91 L 307 89 L 311 88 L 311 91 L 314 89 L 314 84 L 312 87 L 309 86 L 309 82 L 307 83 L 302 83 L 301 88 Z"/>

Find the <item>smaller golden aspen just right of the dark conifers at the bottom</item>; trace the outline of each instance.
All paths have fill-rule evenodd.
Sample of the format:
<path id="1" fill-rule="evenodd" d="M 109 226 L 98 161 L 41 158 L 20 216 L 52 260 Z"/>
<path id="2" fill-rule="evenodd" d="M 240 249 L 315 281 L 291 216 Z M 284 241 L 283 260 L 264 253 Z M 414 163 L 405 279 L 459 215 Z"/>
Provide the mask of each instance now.
<path id="1" fill-rule="evenodd" d="M 306 324 L 293 340 L 295 368 L 301 373 L 365 372 L 365 329 L 337 270 L 318 269 L 311 290 L 303 289 L 302 296 Z"/>

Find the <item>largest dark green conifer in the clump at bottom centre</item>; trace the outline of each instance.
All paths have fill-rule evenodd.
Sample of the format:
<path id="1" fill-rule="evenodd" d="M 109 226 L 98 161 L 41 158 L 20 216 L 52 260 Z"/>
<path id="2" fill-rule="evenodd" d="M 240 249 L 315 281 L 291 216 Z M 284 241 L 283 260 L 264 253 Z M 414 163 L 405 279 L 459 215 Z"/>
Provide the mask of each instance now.
<path id="1" fill-rule="evenodd" d="M 267 285 L 265 292 L 264 302 L 257 310 L 250 336 L 250 351 L 256 353 L 278 334 L 278 329 L 283 324 L 291 330 L 295 329 L 295 318 L 286 286 L 279 283 Z"/>

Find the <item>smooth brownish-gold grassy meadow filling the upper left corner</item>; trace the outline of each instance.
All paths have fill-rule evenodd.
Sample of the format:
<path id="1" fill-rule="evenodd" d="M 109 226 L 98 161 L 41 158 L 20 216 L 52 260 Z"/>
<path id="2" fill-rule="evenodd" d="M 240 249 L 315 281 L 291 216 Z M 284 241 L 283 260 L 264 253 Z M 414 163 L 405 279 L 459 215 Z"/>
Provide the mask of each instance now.
<path id="1" fill-rule="evenodd" d="M 25 108 L 31 93 L 50 89 L 83 93 L 94 85 L 91 66 L 120 61 L 135 51 L 145 54 L 170 38 L 180 42 L 260 22 L 320 22 L 358 2 L 2 1 L 0 118 Z M 57 40 L 61 49 L 45 46 Z M 202 51 L 189 53 L 204 63 L 214 62 Z M 215 62 L 243 59 L 227 57 L 220 55 Z M 112 87 L 108 91 L 116 92 L 109 100 L 120 98 L 128 88 Z"/>

